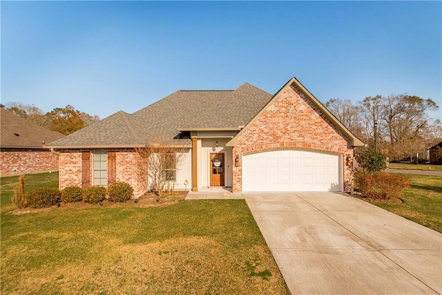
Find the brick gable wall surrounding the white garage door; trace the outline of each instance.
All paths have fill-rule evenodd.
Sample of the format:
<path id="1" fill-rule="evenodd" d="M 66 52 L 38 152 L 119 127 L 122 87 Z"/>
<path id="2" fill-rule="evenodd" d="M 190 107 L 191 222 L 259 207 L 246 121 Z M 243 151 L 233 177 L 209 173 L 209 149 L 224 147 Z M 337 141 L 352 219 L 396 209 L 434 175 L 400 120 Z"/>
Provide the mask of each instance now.
<path id="1" fill-rule="evenodd" d="M 242 155 L 274 149 L 307 149 L 342 155 L 343 189 L 353 191 L 352 166 L 347 166 L 345 160 L 354 155 L 348 138 L 294 86 L 279 93 L 238 137 L 233 147 L 233 191 L 242 191 Z"/>

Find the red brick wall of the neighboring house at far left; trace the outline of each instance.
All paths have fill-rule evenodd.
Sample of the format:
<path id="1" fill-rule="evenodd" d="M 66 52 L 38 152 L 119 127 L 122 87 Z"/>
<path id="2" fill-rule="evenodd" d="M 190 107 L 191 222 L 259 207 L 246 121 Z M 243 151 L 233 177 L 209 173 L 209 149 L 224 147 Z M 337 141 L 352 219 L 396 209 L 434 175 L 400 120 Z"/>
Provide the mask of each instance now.
<path id="1" fill-rule="evenodd" d="M 48 149 L 1 149 L 0 173 L 4 176 L 57 171 L 58 158 Z"/>

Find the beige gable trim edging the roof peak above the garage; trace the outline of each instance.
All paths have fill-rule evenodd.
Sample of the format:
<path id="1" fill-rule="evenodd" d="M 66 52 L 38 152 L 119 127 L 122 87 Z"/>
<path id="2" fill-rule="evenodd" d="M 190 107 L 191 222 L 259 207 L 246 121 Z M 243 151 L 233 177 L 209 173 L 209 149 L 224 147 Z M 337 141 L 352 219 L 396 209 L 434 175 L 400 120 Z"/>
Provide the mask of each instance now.
<path id="1" fill-rule="evenodd" d="M 276 99 L 276 97 L 278 97 L 278 95 L 280 93 L 283 93 L 285 91 L 285 89 L 287 87 L 290 86 L 295 86 L 296 88 L 300 89 L 300 91 L 302 91 L 302 93 L 304 93 L 304 95 L 310 99 L 311 102 L 313 102 L 313 104 L 319 108 L 319 110 L 332 122 L 334 123 L 334 125 L 340 129 L 340 131 L 342 131 L 345 135 L 347 135 L 347 137 L 350 140 L 350 144 L 352 146 L 365 146 L 365 144 L 358 139 L 358 137 L 356 137 L 351 131 L 349 131 L 344 124 L 342 124 L 332 113 L 330 113 L 330 111 L 323 105 L 320 103 L 320 101 L 314 97 L 314 95 L 312 95 L 310 93 L 310 91 L 307 90 L 307 88 L 305 88 L 299 81 L 298 79 L 296 79 L 295 77 L 291 78 L 289 80 L 289 82 L 287 82 L 284 86 L 282 86 L 282 88 L 280 88 L 280 90 L 273 95 L 272 99 L 264 106 L 264 108 L 262 108 L 260 110 L 260 112 L 253 117 L 253 120 L 251 120 L 247 126 L 244 127 L 244 129 L 242 129 L 238 134 L 235 135 L 235 137 L 233 137 L 229 142 L 227 142 L 227 146 L 236 146 L 236 141 L 238 139 L 238 137 L 245 131 L 247 130 L 247 127 L 250 126 L 254 120 L 256 120 L 256 117 L 258 117 L 258 115 L 260 115 L 262 112 L 264 112 L 270 105 L 271 102 Z"/>

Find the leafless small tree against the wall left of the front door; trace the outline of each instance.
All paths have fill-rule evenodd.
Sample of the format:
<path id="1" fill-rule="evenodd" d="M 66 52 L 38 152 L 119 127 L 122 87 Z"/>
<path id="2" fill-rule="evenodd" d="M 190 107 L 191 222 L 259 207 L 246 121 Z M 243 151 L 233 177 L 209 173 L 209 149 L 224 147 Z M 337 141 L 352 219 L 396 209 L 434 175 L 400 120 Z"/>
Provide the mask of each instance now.
<path id="1" fill-rule="evenodd" d="M 164 192 L 173 191 L 177 169 L 188 155 L 189 148 L 157 144 L 137 148 L 136 151 L 142 158 L 137 173 L 146 180 L 145 191 L 151 191 L 159 198 Z"/>

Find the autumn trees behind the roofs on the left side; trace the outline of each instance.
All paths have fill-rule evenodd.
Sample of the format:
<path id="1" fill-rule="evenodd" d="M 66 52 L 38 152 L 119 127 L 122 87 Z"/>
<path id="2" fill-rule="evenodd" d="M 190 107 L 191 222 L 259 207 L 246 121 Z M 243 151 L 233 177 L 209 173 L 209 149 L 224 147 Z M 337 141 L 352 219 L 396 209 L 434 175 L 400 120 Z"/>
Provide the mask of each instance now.
<path id="1" fill-rule="evenodd" d="M 44 113 L 34 104 L 8 102 L 4 107 L 19 117 L 64 135 L 74 133 L 99 120 L 98 115 L 78 111 L 70 104 L 64 108 L 54 108 L 48 113 Z"/>

